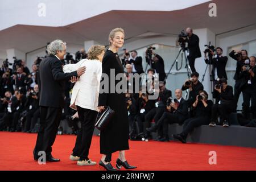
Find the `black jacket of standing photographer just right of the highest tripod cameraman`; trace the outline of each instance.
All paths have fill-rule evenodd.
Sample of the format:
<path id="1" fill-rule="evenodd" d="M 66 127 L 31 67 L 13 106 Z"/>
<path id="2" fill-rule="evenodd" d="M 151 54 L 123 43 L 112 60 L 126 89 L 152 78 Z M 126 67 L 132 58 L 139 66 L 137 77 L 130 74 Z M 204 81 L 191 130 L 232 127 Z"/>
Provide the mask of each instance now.
<path id="1" fill-rule="evenodd" d="M 212 64 L 212 77 L 213 80 L 215 80 L 215 68 L 217 68 L 217 76 L 218 78 L 226 78 L 228 80 L 228 77 L 226 76 L 226 63 L 228 62 L 227 56 L 217 56 L 213 57 L 212 60 L 205 59 L 204 60 L 206 64 Z"/>

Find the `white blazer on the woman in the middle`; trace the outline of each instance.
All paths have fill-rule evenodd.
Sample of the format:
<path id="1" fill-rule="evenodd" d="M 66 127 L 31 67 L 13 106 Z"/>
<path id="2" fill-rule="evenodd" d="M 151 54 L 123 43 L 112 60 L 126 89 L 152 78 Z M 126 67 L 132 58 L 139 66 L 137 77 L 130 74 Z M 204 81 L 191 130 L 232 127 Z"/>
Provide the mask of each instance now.
<path id="1" fill-rule="evenodd" d="M 86 67 L 86 71 L 79 77 L 72 90 L 70 107 L 76 110 L 76 105 L 84 109 L 98 111 L 98 95 L 102 74 L 99 60 L 82 59 L 76 64 L 66 64 L 64 73 L 76 71 L 80 67 Z"/>

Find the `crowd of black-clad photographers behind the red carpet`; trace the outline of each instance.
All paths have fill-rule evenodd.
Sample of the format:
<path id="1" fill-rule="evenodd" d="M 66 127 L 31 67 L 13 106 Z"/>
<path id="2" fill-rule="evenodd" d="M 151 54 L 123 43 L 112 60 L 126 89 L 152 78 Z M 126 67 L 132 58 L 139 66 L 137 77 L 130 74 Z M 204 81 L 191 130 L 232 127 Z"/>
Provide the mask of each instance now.
<path id="1" fill-rule="evenodd" d="M 192 29 L 188 28 L 188 34 L 183 32 L 180 35 L 179 43 L 181 46 L 188 42 L 190 50 L 188 64 L 193 69 L 190 78 L 184 81 L 180 88 L 172 93 L 166 87 L 166 72 L 164 69 L 163 58 L 154 52 L 154 47 L 147 48 L 146 62 L 149 69 L 142 67 L 142 57 L 138 56 L 137 51 L 127 51 L 122 57 L 123 68 L 126 71 L 127 86 L 131 83 L 134 73 L 144 73 L 154 77 L 158 73 L 159 88 L 155 88 L 154 82 L 146 81 L 154 92 L 158 92 L 159 97 L 156 100 L 148 99 L 150 93 L 134 93 L 129 90 L 126 93 L 127 111 L 130 123 L 130 139 L 143 140 L 151 139 L 152 132 L 157 132 L 159 141 L 168 141 L 168 125 L 177 123 L 183 126 L 180 134 L 174 134 L 173 137 L 185 143 L 189 133 L 201 125 L 223 127 L 230 126 L 230 114 L 236 113 L 237 102 L 242 93 L 243 104 L 242 114 L 238 114 L 238 121 L 242 126 L 255 127 L 256 122 L 256 68 L 255 57 L 248 57 L 247 51 L 232 51 L 229 56 L 237 62 L 234 86 L 228 85 L 226 75 L 227 56 L 222 55 L 222 48 L 208 46 L 205 49 L 205 63 L 212 67 L 210 81 L 212 81 L 213 92 L 207 93 L 204 85 L 199 81 L 199 73 L 195 71 L 195 59 L 200 57 L 198 52 L 199 38 L 193 34 Z M 185 36 L 193 40 L 184 39 Z M 189 39 L 188 38 L 188 39 Z M 184 45 L 183 45 L 184 46 Z M 196 48 L 193 48 L 196 47 Z M 86 52 L 81 49 L 76 53 L 75 59 L 69 53 L 62 60 L 64 64 L 77 63 L 77 61 L 86 58 Z M 40 113 L 38 106 L 38 68 L 42 58 L 39 57 L 30 69 L 26 67 L 25 61 L 16 60 L 14 57 L 13 69 L 10 69 L 8 60 L 3 62 L 0 69 L 0 130 L 5 131 L 23 131 L 36 133 Z M 140 79 L 139 82 L 142 80 Z M 140 84 L 141 85 L 141 84 Z M 72 134 L 79 130 L 79 118 L 75 110 L 70 109 L 70 96 L 72 82 L 68 81 L 65 88 L 65 107 L 63 109 L 62 119 L 65 119 L 68 126 L 72 129 Z M 170 88 L 171 85 L 168 85 Z M 186 92 L 188 98 L 183 98 L 183 92 Z M 152 94 L 152 93 L 151 93 Z M 209 99 L 213 94 L 214 102 Z M 152 124 L 154 123 L 154 124 Z M 61 127 L 58 131 L 63 133 Z"/>

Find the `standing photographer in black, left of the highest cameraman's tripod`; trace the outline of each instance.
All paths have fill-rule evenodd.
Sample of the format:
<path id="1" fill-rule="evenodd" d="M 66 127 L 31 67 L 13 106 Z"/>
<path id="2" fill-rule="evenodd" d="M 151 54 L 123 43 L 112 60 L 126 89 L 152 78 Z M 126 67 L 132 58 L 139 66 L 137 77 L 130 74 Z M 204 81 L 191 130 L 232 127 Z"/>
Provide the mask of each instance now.
<path id="1" fill-rule="evenodd" d="M 155 69 L 156 73 L 159 75 L 159 81 L 164 81 L 166 78 L 166 71 L 164 70 L 164 60 L 161 56 L 156 54 L 153 49 L 155 47 L 149 47 L 146 51 L 146 61 L 151 65 L 152 69 Z M 154 56 L 152 59 L 151 57 Z"/>

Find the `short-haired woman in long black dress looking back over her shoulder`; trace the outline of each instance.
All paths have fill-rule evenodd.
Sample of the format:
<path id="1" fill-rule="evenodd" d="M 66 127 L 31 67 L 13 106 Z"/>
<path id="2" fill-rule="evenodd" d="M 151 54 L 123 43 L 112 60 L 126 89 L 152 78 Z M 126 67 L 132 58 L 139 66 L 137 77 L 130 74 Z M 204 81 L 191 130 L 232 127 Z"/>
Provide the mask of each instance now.
<path id="1" fill-rule="evenodd" d="M 112 88 L 114 89 L 114 93 L 110 93 L 110 80 L 112 79 L 115 85 L 117 85 L 119 82 L 114 81 L 115 77 L 110 77 L 110 69 L 115 72 L 114 76 L 117 76 L 118 73 L 124 73 L 121 60 L 117 54 L 118 49 L 123 46 L 124 36 L 125 32 L 122 28 L 115 28 L 109 34 L 110 47 L 105 52 L 102 61 L 102 76 L 104 73 L 108 75 L 109 89 L 108 92 L 100 92 L 98 99 L 98 109 L 100 111 L 104 110 L 106 106 L 109 106 L 115 111 L 113 118 L 108 123 L 108 126 L 106 126 L 106 128 L 102 130 L 100 134 L 100 152 L 103 155 L 99 164 L 105 169 L 111 171 L 117 170 L 113 168 L 110 163 L 112 153 L 116 151 L 119 151 L 119 156 L 116 161 L 116 166 L 118 169 L 120 169 L 122 166 L 126 169 L 136 168 L 134 166 L 130 166 L 125 158 L 125 150 L 129 150 L 129 121 L 125 93 L 117 93 L 115 88 Z M 104 79 L 101 81 L 104 81 Z"/>

